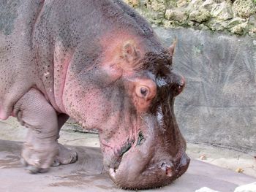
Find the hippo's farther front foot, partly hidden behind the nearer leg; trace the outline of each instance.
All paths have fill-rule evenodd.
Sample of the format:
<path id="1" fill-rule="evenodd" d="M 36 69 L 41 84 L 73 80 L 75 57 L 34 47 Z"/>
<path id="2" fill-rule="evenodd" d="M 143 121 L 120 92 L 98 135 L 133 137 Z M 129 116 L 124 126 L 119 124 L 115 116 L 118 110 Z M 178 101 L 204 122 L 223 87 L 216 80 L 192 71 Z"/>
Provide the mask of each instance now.
<path id="1" fill-rule="evenodd" d="M 75 150 L 70 150 L 59 144 L 59 154 L 56 156 L 51 166 L 73 164 L 75 161 L 78 161 L 78 153 L 76 153 Z"/>

